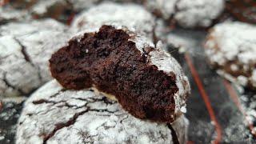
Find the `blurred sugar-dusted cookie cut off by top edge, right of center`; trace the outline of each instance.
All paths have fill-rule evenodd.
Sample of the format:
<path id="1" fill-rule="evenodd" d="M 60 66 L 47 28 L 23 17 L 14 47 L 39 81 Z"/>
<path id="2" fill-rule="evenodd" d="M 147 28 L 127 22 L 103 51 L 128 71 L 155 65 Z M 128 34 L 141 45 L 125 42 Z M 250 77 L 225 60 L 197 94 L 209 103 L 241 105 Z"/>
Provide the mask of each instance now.
<path id="1" fill-rule="evenodd" d="M 145 0 L 144 3 L 154 14 L 186 28 L 208 27 L 224 9 L 223 0 Z"/>

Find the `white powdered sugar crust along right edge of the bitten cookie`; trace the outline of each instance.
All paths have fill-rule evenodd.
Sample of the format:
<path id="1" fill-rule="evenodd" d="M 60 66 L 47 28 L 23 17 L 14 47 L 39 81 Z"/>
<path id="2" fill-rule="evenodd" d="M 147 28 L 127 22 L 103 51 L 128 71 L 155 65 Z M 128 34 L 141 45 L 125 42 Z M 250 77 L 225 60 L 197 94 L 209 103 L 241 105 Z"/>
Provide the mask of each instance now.
<path id="1" fill-rule="evenodd" d="M 148 61 L 152 65 L 157 66 L 158 70 L 162 70 L 168 75 L 175 75 L 175 83 L 178 87 L 178 92 L 174 94 L 174 118 L 178 117 L 184 113 L 184 110 L 182 109 L 186 109 L 186 99 L 190 94 L 190 82 L 183 73 L 182 67 L 175 58 L 164 51 L 165 48 L 162 45 L 162 42 L 158 42 L 157 45 L 154 46 L 153 42 L 150 42 L 148 38 L 142 37 L 139 34 L 130 34 L 130 37 L 132 38 L 130 41 L 135 42 L 137 49 L 140 50 L 142 54 L 147 47 L 154 47 L 154 50 L 151 50 L 148 54 Z"/>

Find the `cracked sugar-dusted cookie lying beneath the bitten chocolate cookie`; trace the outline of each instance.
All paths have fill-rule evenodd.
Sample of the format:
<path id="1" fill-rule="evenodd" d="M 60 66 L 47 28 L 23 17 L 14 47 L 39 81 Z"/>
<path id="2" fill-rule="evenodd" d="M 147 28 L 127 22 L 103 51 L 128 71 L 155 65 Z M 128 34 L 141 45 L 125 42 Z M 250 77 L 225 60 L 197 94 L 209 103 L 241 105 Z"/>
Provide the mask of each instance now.
<path id="1" fill-rule="evenodd" d="M 174 124 L 142 121 L 93 90 L 65 90 L 51 81 L 26 101 L 16 138 L 19 144 L 185 143 L 187 125 L 184 116 Z"/>

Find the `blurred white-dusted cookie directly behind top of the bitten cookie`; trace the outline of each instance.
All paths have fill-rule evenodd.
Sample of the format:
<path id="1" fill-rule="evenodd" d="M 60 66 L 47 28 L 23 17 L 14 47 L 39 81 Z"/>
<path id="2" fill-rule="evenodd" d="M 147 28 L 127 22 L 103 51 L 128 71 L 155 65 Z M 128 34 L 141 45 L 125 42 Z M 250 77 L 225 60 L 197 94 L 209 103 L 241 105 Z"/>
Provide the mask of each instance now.
<path id="1" fill-rule="evenodd" d="M 126 26 L 129 30 L 154 37 L 155 18 L 142 6 L 104 2 L 78 15 L 72 23 L 74 33 L 98 30 L 102 25 Z"/>

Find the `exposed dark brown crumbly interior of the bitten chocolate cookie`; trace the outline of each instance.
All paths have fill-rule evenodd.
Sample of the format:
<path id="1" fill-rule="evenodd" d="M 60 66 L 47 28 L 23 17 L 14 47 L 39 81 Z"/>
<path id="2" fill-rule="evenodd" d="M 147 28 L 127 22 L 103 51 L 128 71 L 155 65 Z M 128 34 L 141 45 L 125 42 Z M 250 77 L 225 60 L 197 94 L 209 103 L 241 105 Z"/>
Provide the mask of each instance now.
<path id="1" fill-rule="evenodd" d="M 102 26 L 98 33 L 72 39 L 50 58 L 54 78 L 68 89 L 95 86 L 113 94 L 137 118 L 174 121 L 175 74 L 150 65 L 148 47 L 141 54 L 124 30 Z"/>

